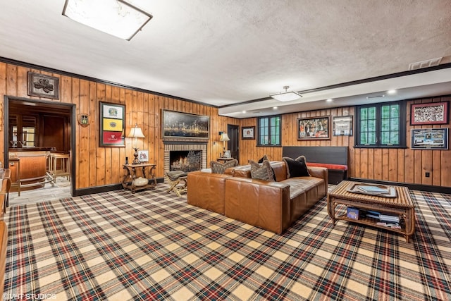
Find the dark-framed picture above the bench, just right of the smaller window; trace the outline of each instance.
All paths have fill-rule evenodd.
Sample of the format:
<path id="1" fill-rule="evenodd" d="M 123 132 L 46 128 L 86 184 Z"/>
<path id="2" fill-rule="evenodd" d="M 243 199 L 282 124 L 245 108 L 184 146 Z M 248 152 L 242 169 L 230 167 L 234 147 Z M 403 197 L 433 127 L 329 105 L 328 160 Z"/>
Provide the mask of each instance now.
<path id="1" fill-rule="evenodd" d="M 297 118 L 297 140 L 330 139 L 330 116 Z"/>

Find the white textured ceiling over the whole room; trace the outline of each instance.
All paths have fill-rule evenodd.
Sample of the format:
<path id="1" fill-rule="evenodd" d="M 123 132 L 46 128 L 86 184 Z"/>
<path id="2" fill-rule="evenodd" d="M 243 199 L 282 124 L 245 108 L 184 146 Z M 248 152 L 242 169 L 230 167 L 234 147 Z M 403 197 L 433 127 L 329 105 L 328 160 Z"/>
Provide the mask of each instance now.
<path id="1" fill-rule="evenodd" d="M 449 0 L 135 0 L 154 18 L 130 42 L 62 16 L 63 0 L 2 2 L 2 57 L 227 106 L 220 113 L 235 117 L 246 106 L 232 104 L 279 105 L 264 98 L 284 85 L 305 91 L 451 61 Z M 428 85 L 451 81 L 443 72 Z"/>

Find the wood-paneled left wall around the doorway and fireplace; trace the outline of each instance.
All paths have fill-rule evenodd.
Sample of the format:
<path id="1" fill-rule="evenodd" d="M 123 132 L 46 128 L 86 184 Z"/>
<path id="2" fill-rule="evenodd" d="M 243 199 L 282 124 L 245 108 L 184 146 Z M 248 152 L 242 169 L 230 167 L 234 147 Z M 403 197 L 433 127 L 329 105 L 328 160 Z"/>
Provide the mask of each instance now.
<path id="1" fill-rule="evenodd" d="M 75 189 L 111 185 L 121 182 L 122 164 L 125 156 L 132 157 L 132 141 L 125 139 L 126 147 L 99 147 L 99 102 L 125 104 L 125 133 L 137 123 L 145 135 L 138 147 L 149 150 L 149 161 L 157 164 L 156 176 L 163 177 L 163 141 L 161 140 L 161 109 L 181 111 L 210 116 L 210 140 L 207 146 L 207 162 L 216 159 L 222 150 L 219 131 L 226 131 L 227 124 L 239 125 L 240 120 L 218 116 L 218 109 L 180 99 L 162 97 L 156 94 L 138 92 L 113 85 L 76 78 L 58 73 L 43 72 L 11 63 L 0 62 L 0 96 L 30 97 L 27 95 L 27 72 L 42 73 L 60 78 L 60 99 L 54 102 L 75 104 L 76 115 L 89 114 L 89 126 L 82 127 L 75 121 L 76 127 L 76 178 Z M 51 100 L 44 99 L 43 100 Z M 4 158 L 4 102 L 0 102 L 0 145 L 1 160 Z M 214 143 L 216 142 L 216 143 Z"/>

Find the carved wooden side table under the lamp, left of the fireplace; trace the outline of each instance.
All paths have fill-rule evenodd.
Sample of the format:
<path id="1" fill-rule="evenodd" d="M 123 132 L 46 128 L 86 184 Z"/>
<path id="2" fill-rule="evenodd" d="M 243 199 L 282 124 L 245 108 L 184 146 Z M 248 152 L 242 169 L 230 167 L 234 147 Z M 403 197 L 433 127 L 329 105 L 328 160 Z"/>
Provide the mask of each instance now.
<path id="1" fill-rule="evenodd" d="M 140 164 L 123 164 L 125 170 L 124 178 L 122 180 L 122 187 L 135 193 L 139 190 L 154 189 L 156 186 L 155 178 L 156 164 L 140 163 Z M 147 184 L 135 185 L 137 180 L 137 171 L 141 170 L 142 178 L 147 179 Z"/>

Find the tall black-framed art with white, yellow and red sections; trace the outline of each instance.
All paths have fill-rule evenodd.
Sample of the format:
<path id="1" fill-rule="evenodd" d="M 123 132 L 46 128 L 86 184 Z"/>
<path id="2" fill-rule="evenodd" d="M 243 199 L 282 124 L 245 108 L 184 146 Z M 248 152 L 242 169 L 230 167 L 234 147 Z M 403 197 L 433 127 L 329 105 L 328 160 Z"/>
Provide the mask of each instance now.
<path id="1" fill-rule="evenodd" d="M 125 147 L 125 105 L 100 102 L 100 147 Z"/>

